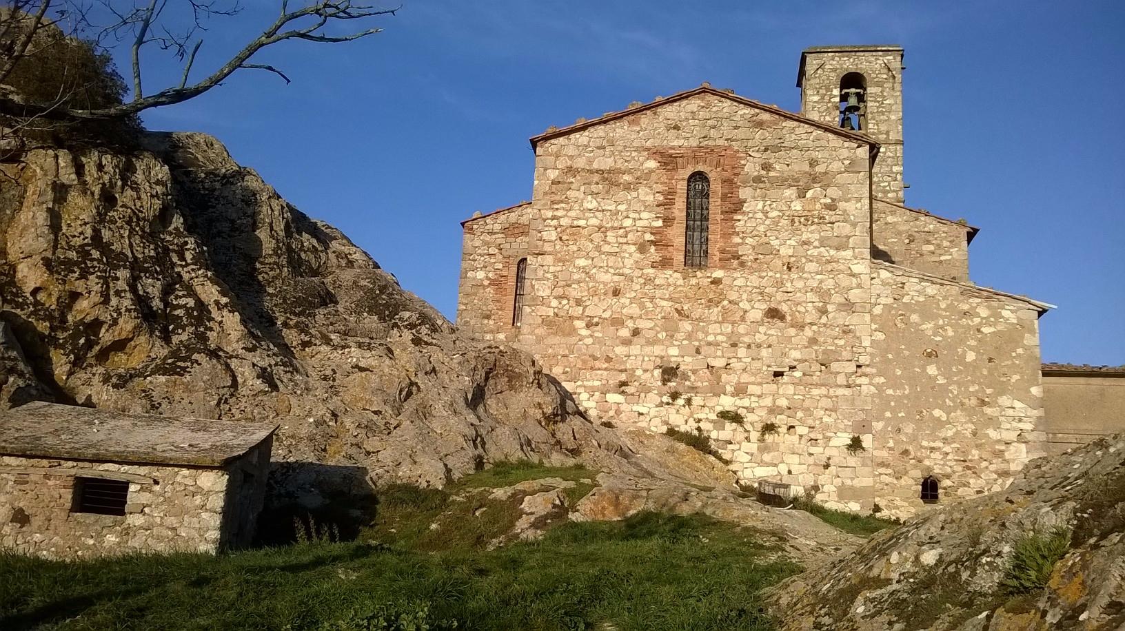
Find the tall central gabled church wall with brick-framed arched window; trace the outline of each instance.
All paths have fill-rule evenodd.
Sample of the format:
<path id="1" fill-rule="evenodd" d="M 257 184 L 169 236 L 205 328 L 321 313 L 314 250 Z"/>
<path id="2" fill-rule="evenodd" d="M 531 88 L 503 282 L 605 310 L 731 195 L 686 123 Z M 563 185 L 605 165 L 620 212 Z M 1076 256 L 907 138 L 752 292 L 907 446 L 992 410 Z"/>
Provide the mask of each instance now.
<path id="1" fill-rule="evenodd" d="M 746 479 L 870 507 L 870 451 L 846 448 L 871 442 L 868 165 L 866 145 L 706 93 L 540 142 L 519 344 L 600 417 L 699 430 Z M 683 265 L 694 171 L 704 269 Z"/>

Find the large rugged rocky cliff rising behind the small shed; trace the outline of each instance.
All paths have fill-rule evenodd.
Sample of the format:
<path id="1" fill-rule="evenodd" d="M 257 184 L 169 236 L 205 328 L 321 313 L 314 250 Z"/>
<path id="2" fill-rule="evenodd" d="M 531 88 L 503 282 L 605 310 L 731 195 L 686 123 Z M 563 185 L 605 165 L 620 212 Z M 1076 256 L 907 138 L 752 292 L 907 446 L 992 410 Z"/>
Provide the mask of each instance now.
<path id="1" fill-rule="evenodd" d="M 457 334 L 214 138 L 35 150 L 0 178 L 0 407 L 277 421 L 277 459 L 441 485 L 612 433 L 518 351 Z"/>

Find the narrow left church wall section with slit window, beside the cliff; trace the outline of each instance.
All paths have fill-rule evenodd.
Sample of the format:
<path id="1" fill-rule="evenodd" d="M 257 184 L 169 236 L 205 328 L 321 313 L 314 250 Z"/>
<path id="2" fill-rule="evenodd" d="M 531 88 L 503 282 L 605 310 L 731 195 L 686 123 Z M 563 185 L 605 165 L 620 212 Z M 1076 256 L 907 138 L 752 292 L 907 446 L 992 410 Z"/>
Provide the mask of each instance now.
<path id="1" fill-rule="evenodd" d="M 528 254 L 531 204 L 469 219 L 462 224 L 461 277 L 457 325 L 495 341 L 512 341 L 515 265 Z"/>

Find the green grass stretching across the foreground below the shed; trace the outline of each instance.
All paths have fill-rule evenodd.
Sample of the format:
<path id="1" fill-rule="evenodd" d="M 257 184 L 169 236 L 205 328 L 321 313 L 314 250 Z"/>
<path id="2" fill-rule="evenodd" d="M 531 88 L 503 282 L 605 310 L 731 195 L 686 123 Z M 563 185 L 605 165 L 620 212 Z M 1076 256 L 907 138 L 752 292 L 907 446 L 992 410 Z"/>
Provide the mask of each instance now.
<path id="1" fill-rule="evenodd" d="M 384 502 L 434 510 L 440 497 L 399 488 Z M 645 513 L 490 551 L 404 539 L 79 562 L 9 555 L 0 629 L 766 630 L 757 593 L 799 568 L 772 560 L 765 540 Z"/>

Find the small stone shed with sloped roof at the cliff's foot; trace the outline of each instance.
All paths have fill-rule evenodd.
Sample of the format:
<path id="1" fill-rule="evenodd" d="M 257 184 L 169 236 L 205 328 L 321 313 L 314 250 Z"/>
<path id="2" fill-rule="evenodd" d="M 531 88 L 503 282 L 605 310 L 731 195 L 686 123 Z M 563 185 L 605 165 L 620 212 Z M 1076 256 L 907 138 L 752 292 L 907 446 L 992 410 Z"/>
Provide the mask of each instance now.
<path id="1" fill-rule="evenodd" d="M 276 430 L 42 402 L 0 412 L 0 549 L 75 558 L 249 544 Z"/>

